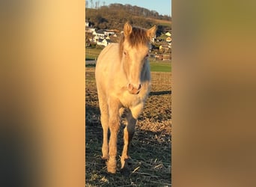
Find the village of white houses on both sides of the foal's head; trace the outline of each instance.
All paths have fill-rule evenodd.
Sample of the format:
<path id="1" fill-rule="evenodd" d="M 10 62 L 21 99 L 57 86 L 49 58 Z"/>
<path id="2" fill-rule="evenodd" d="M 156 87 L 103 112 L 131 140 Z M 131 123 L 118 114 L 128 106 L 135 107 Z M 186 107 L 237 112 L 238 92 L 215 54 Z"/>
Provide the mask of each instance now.
<path id="1" fill-rule="evenodd" d="M 97 29 L 90 22 L 85 22 L 85 46 L 88 49 L 103 49 L 110 43 L 118 43 L 122 33 L 117 29 Z M 152 38 L 150 60 L 171 61 L 171 30 Z"/>

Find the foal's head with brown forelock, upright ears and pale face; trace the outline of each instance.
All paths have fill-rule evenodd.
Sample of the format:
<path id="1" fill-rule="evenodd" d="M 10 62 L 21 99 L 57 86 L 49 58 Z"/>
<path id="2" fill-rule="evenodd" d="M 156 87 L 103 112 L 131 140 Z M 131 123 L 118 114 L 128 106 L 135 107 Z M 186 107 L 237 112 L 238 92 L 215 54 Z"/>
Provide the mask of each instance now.
<path id="1" fill-rule="evenodd" d="M 124 25 L 124 36 L 121 38 L 120 52 L 126 73 L 129 93 L 137 94 L 141 89 L 141 72 L 150 47 L 150 38 L 156 33 L 156 26 L 146 30 Z"/>

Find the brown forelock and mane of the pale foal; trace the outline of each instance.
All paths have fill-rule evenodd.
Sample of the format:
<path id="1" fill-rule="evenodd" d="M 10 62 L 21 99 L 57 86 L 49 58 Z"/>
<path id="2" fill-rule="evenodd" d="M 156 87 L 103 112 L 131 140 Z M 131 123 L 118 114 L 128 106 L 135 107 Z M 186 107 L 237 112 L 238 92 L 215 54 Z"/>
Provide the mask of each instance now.
<path id="1" fill-rule="evenodd" d="M 129 42 L 130 46 L 138 46 L 139 44 L 144 45 L 149 42 L 149 37 L 147 36 L 147 31 L 144 28 L 132 27 L 132 33 L 128 37 L 124 37 L 124 34 L 121 36 L 119 41 L 119 54 L 120 58 L 123 55 L 124 51 L 124 40 Z"/>

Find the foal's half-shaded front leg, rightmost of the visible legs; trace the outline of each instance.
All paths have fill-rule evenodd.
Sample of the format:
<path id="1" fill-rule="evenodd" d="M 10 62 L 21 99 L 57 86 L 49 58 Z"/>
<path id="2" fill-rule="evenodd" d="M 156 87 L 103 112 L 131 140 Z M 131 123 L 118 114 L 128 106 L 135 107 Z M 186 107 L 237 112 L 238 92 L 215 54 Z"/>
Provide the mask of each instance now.
<path id="1" fill-rule="evenodd" d="M 127 126 L 124 128 L 124 149 L 121 156 L 121 171 L 124 172 L 124 174 L 129 173 L 129 169 L 127 168 L 127 159 L 129 158 L 129 144 L 132 141 L 132 137 L 135 132 L 135 125 L 142 110 L 143 105 L 138 105 L 135 108 L 131 108 L 127 114 Z"/>

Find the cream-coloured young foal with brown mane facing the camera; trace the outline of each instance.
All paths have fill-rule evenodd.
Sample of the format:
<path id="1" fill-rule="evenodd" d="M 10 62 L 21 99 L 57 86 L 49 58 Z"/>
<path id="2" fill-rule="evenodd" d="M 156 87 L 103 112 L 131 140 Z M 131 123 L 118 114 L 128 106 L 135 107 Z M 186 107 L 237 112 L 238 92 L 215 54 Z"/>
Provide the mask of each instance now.
<path id="1" fill-rule="evenodd" d="M 124 129 L 124 149 L 121 168 L 127 168 L 128 148 L 135 131 L 135 123 L 144 108 L 150 89 L 150 68 L 147 60 L 150 38 L 156 26 L 145 30 L 127 22 L 120 43 L 112 43 L 100 53 L 95 77 L 103 126 L 103 159 L 109 173 L 116 173 L 116 156 L 120 117 L 128 109 Z M 108 144 L 108 130 L 110 138 Z"/>

